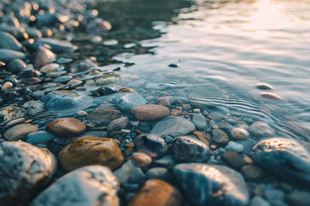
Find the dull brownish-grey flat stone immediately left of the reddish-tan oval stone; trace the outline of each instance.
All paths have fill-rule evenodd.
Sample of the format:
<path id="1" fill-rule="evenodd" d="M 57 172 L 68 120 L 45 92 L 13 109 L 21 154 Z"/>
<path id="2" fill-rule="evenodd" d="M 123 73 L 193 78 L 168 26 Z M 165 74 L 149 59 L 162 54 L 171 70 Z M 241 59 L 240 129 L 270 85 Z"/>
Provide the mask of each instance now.
<path id="1" fill-rule="evenodd" d="M 117 118 L 120 118 L 122 115 L 121 111 L 114 110 L 114 109 L 96 109 L 89 113 L 86 116 L 87 120 L 93 121 L 93 122 L 101 122 L 103 125 L 107 125 L 113 120 L 116 120 Z"/>

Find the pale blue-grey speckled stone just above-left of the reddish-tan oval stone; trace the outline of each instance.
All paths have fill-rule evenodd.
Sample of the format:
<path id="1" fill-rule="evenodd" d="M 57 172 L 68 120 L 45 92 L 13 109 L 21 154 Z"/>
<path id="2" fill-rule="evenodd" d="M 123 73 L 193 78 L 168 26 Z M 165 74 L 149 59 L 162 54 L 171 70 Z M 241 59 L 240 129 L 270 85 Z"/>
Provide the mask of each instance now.
<path id="1" fill-rule="evenodd" d="M 112 102 L 121 110 L 130 110 L 133 107 L 146 104 L 147 100 L 137 92 L 129 92 L 116 95 Z"/>

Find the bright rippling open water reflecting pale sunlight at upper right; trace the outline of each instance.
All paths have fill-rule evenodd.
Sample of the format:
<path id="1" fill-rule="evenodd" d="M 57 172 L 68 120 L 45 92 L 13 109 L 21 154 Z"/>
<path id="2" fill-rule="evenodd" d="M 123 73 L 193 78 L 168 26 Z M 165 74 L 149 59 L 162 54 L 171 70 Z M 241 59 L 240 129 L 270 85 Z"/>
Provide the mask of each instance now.
<path id="1" fill-rule="evenodd" d="M 154 29 L 166 34 L 141 43 L 156 46 L 155 55 L 116 57 L 135 63 L 123 70 L 123 80 L 139 75 L 145 82 L 185 92 L 210 82 L 229 95 L 220 104 L 231 110 L 281 129 L 281 118 L 259 109 L 268 103 L 287 108 L 294 121 L 310 122 L 310 0 L 195 2 L 173 17 L 177 24 L 153 22 Z M 267 92 L 281 100 L 253 97 L 251 93 L 266 91 L 257 88 L 259 83 L 270 85 Z"/>

